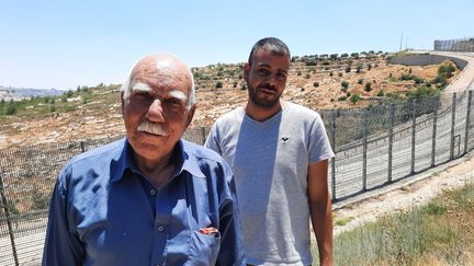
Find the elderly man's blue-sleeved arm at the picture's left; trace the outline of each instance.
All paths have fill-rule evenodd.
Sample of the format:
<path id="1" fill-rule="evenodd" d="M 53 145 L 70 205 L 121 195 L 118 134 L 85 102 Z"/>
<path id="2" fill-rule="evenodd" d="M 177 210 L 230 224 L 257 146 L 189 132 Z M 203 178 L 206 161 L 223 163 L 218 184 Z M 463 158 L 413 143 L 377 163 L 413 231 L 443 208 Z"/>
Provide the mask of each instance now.
<path id="1" fill-rule="evenodd" d="M 49 206 L 44 266 L 82 265 L 83 246 L 77 235 L 69 231 L 66 206 L 66 192 L 58 181 Z"/>

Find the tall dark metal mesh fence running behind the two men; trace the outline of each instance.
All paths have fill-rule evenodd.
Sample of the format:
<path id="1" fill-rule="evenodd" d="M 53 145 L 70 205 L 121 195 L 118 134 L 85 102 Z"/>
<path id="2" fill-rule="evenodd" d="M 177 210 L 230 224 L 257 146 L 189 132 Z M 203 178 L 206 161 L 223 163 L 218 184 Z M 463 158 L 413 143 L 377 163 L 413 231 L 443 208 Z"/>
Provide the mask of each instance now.
<path id="1" fill-rule="evenodd" d="M 451 105 L 442 106 L 435 97 L 320 111 L 336 152 L 328 175 L 332 200 L 410 178 L 472 150 L 472 91 L 452 94 Z M 184 138 L 203 143 L 207 132 L 190 128 Z M 0 150 L 0 265 L 40 264 L 60 167 L 75 154 L 119 138 Z"/>

